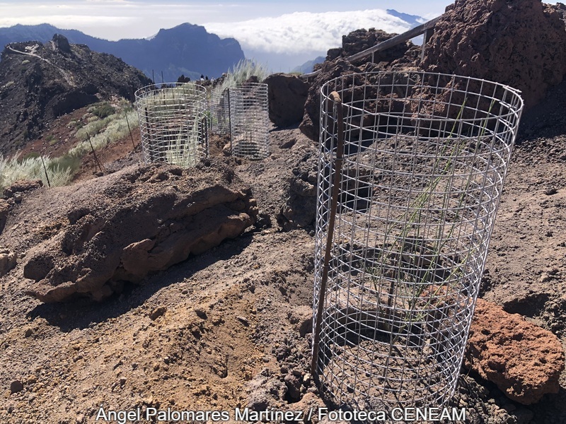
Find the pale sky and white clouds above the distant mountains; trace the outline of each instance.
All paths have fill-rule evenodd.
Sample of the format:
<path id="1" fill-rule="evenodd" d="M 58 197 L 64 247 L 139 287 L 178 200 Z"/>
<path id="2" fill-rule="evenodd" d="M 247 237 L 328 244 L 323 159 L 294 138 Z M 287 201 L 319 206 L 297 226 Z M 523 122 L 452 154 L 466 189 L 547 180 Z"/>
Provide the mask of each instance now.
<path id="1" fill-rule="evenodd" d="M 0 0 L 0 27 L 16 24 L 50 23 L 59 29 L 80 30 L 86 35 L 116 41 L 149 38 L 160 29 L 183 23 L 202 25 L 221 38 L 233 37 L 250 59 L 262 57 L 275 71 L 282 64 L 292 68 L 299 57 L 314 59 L 332 47 L 339 47 L 342 35 L 359 28 L 378 28 L 402 33 L 410 25 L 388 15 L 386 9 L 422 16 L 439 16 L 451 1 L 423 4 L 417 0 L 343 1 L 259 1 L 241 0 L 229 4 L 171 0 L 156 4 L 143 0 Z M 173 13 L 172 13 L 173 11 Z M 281 56 L 279 63 L 276 63 Z M 286 57 L 294 57 L 289 63 Z M 308 59 L 306 59 L 308 60 Z M 291 61 L 293 61 L 291 59 Z"/>

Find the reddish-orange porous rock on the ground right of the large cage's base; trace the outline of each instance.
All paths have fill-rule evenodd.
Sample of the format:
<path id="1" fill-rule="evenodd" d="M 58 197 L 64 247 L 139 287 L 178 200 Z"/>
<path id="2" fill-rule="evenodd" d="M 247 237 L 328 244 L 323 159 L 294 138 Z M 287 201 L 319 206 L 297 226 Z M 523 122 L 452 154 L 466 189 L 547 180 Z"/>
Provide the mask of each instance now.
<path id="1" fill-rule="evenodd" d="M 524 405 L 558 393 L 564 349 L 557 336 L 478 299 L 470 327 L 465 366 Z"/>

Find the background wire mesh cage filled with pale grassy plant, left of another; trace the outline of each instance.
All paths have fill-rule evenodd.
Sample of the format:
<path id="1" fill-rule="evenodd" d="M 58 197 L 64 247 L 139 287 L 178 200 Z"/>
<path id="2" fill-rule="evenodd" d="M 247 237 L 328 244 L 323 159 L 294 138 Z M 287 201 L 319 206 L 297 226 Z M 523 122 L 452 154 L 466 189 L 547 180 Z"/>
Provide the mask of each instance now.
<path id="1" fill-rule="evenodd" d="M 144 160 L 191 167 L 208 154 L 207 90 L 196 83 L 136 91 Z"/>

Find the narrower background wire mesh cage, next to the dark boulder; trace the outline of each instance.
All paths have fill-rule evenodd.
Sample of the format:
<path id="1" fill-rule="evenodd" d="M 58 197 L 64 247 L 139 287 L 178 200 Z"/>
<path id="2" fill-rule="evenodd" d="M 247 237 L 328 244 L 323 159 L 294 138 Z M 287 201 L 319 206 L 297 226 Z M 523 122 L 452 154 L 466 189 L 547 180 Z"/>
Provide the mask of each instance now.
<path id="1" fill-rule="evenodd" d="M 263 159 L 269 155 L 267 84 L 242 83 L 229 88 L 232 154 Z"/>

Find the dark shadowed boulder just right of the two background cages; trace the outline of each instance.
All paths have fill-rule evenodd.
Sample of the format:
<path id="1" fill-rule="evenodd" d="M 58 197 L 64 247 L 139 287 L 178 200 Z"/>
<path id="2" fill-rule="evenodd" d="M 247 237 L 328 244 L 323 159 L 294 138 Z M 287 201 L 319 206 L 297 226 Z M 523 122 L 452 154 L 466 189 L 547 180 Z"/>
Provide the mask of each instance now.
<path id="1" fill-rule="evenodd" d="M 271 122 L 276 126 L 290 126 L 301 122 L 308 83 L 287 73 L 273 73 L 264 82 L 267 84 Z"/>

